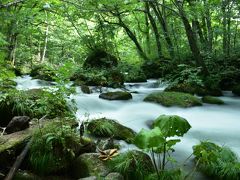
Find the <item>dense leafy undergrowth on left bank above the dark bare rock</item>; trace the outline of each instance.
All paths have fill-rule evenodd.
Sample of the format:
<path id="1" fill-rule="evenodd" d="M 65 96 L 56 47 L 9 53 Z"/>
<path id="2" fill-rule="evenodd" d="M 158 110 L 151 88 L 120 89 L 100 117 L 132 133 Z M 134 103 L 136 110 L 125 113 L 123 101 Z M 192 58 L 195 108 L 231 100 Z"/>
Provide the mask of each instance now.
<path id="1" fill-rule="evenodd" d="M 1 108 L 9 107 L 13 115 L 28 115 L 41 118 L 73 116 L 72 109 L 59 91 L 49 92 L 46 90 L 9 90 L 0 96 Z"/>

